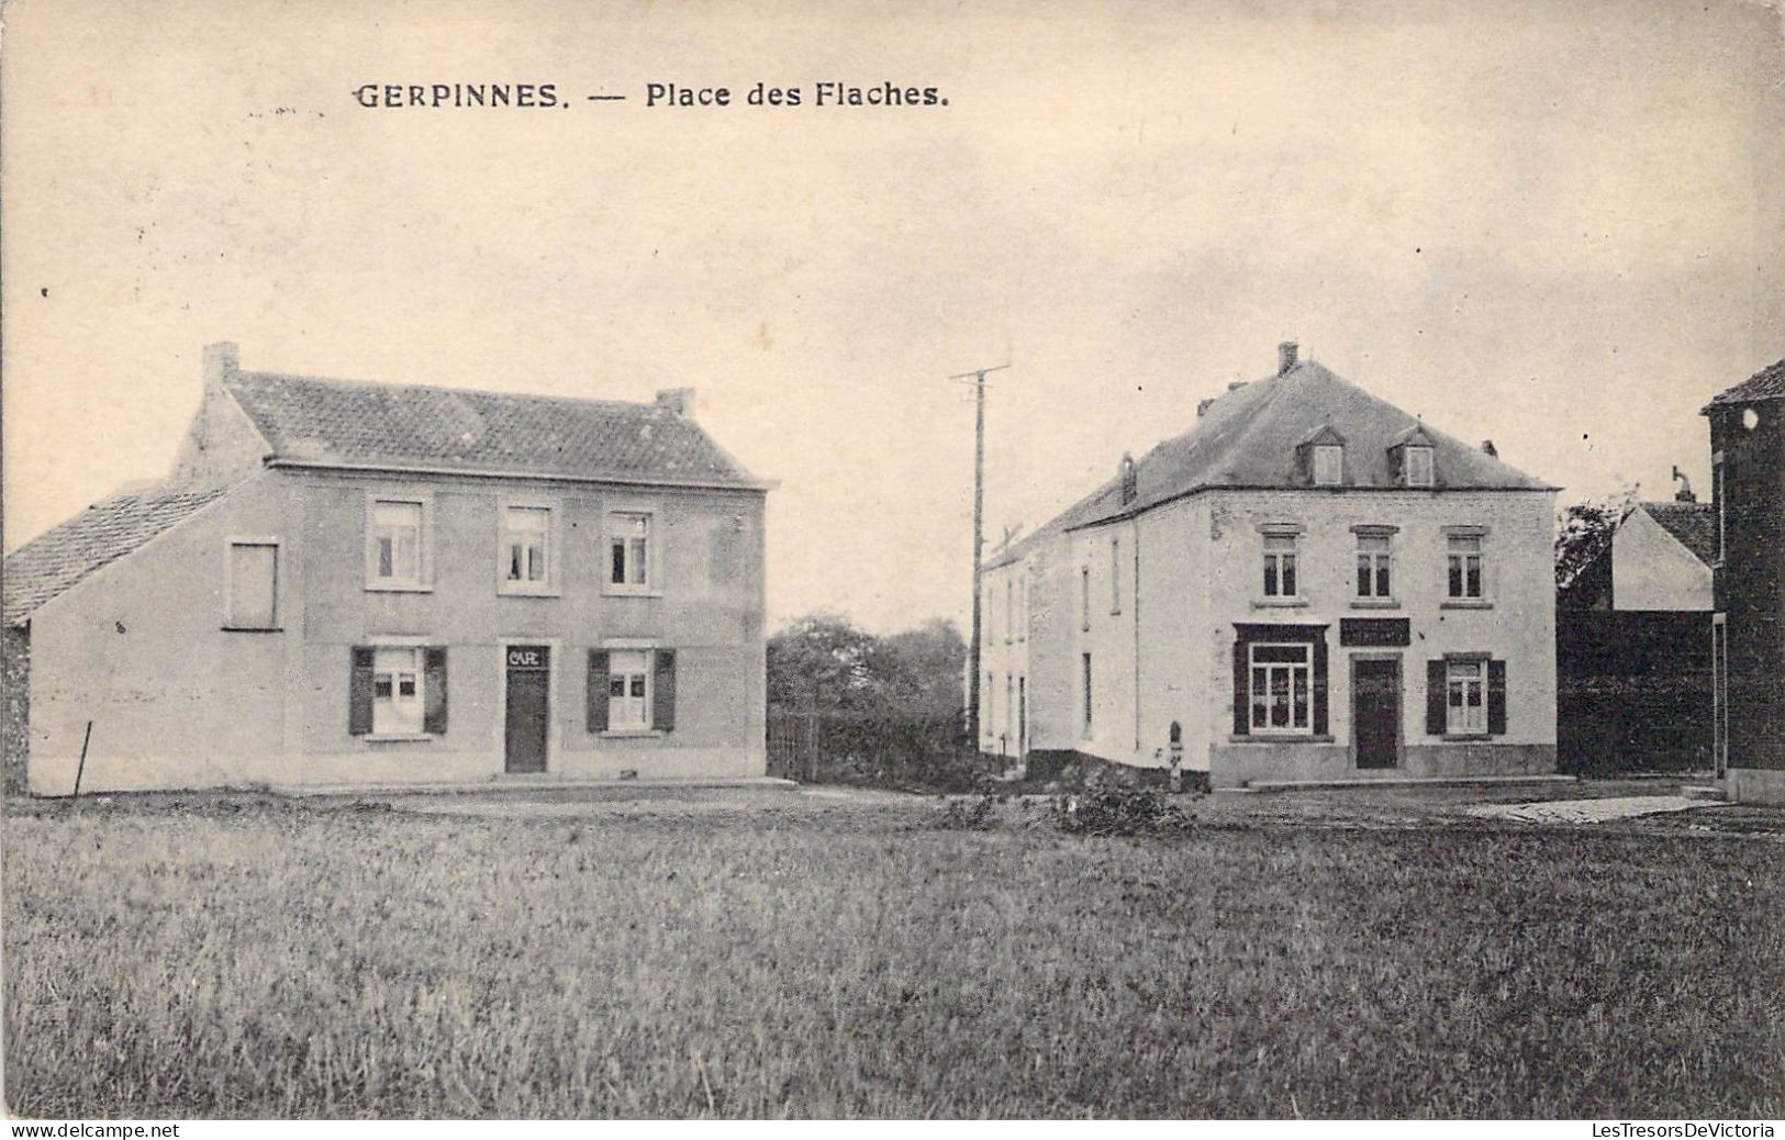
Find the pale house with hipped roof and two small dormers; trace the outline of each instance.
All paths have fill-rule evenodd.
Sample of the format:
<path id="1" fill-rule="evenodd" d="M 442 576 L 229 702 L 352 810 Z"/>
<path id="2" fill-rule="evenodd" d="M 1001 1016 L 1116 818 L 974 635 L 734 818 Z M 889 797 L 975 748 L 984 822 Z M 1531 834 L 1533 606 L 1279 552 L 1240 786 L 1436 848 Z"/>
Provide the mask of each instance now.
<path id="1" fill-rule="evenodd" d="M 1216 787 L 1551 772 L 1555 487 L 1285 343 L 989 558 L 980 748 Z"/>

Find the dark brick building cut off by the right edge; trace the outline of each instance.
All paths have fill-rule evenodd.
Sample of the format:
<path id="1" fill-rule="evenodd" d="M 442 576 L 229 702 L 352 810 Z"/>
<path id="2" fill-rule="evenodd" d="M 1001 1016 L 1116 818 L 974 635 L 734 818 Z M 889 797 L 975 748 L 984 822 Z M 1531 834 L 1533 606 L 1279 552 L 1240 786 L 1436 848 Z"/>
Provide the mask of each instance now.
<path id="1" fill-rule="evenodd" d="M 1730 799 L 1785 803 L 1785 360 L 1705 405 L 1717 508 L 1712 724 Z"/>

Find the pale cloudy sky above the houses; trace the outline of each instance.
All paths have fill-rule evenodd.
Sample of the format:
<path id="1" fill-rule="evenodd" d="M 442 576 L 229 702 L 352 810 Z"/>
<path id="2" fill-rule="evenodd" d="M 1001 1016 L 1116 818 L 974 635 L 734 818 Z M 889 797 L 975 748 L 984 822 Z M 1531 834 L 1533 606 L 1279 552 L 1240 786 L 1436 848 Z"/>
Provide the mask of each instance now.
<path id="1" fill-rule="evenodd" d="M 5 7 L 5 549 L 161 478 L 200 350 L 650 400 L 769 494 L 771 623 L 971 605 L 1296 339 L 1562 485 L 1678 466 L 1785 357 L 1785 54 L 1748 0 Z M 818 82 L 946 105 L 818 107 Z M 362 84 L 566 107 L 361 107 Z M 648 84 L 730 107 L 652 107 Z M 757 82 L 800 107 L 750 107 Z M 587 95 L 625 95 L 591 102 Z"/>

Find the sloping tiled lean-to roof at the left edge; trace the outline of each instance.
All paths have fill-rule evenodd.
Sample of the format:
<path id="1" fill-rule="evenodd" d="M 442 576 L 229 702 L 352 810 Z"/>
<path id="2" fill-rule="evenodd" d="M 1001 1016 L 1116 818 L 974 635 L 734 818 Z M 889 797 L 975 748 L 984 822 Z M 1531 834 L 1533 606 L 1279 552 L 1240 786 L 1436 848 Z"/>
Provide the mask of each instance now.
<path id="1" fill-rule="evenodd" d="M 5 557 L 5 624 L 214 503 L 228 487 L 148 487 L 93 503 Z"/>

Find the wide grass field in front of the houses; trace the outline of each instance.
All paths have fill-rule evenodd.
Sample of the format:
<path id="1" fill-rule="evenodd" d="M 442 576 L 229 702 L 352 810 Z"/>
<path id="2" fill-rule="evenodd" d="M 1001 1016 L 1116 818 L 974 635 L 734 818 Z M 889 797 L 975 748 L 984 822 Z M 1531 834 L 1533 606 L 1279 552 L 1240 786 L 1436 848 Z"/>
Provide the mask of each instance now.
<path id="1" fill-rule="evenodd" d="M 1785 1113 L 1767 817 L 1532 828 L 1460 819 L 1462 796 L 1210 797 L 1175 838 L 1067 837 L 1039 805 L 946 830 L 934 801 L 796 792 L 14 801 L 7 1101 Z M 1690 817 L 1719 812 L 1740 810 Z"/>

